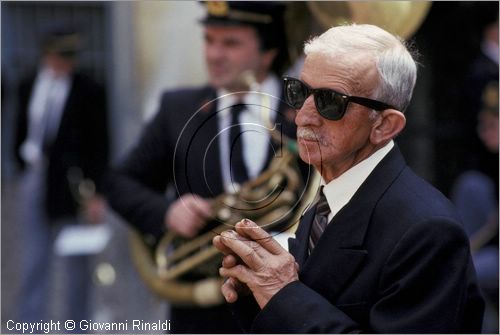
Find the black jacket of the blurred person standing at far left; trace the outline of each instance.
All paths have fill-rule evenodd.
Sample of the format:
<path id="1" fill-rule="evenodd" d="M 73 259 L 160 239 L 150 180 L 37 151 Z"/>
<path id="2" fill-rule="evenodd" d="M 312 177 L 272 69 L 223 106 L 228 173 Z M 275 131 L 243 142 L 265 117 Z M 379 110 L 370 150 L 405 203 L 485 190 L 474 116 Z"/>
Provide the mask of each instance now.
<path id="1" fill-rule="evenodd" d="M 30 77 L 19 87 L 15 153 L 21 169 L 26 163 L 19 148 L 27 136 L 34 80 Z M 73 216 L 77 211 L 67 178 L 70 168 L 80 168 L 84 177 L 92 179 L 102 192 L 109 145 L 106 113 L 103 88 L 84 75 L 74 74 L 57 135 L 48 148 L 45 208 L 50 218 Z"/>

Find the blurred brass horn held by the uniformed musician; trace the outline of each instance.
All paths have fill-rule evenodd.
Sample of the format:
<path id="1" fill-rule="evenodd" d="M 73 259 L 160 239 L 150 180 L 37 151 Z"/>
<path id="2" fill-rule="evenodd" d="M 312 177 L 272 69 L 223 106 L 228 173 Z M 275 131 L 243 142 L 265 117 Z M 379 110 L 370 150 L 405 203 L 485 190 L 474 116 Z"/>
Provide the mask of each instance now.
<path id="1" fill-rule="evenodd" d="M 174 305 L 210 306 L 222 303 L 222 282 L 216 271 L 220 267 L 221 255 L 211 245 L 215 234 L 231 229 L 230 224 L 243 218 L 255 221 L 268 231 L 276 227 L 287 230 L 298 221 L 293 219 L 296 213 L 301 213 L 307 205 L 303 200 L 309 194 L 303 187 L 294 146 L 294 141 L 287 140 L 269 168 L 258 178 L 243 184 L 238 193 L 216 197 L 212 202 L 213 221 L 220 224 L 208 232 L 190 241 L 169 232 L 159 243 L 153 257 L 141 236 L 132 233 L 134 263 L 147 286 Z M 318 180 L 312 178 L 308 189 L 316 189 Z M 208 278 L 195 282 L 179 280 L 193 272 L 200 278 Z"/>

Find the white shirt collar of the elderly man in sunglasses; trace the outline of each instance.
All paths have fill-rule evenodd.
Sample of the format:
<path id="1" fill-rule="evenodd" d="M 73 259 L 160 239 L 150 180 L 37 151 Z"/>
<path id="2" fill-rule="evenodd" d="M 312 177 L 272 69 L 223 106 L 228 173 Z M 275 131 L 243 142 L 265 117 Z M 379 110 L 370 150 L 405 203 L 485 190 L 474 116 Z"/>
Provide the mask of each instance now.
<path id="1" fill-rule="evenodd" d="M 361 184 L 393 147 L 394 141 L 391 140 L 328 184 L 325 185 L 325 181 L 321 180 L 321 184 L 324 185 L 323 192 L 330 206 L 329 219 L 333 218 L 351 200 Z"/>

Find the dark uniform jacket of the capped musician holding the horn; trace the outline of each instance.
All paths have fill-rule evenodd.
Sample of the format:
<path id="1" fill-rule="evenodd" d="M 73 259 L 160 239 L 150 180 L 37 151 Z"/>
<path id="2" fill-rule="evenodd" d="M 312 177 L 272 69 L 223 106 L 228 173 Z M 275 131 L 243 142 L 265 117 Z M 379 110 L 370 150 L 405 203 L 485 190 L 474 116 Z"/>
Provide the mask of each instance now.
<path id="1" fill-rule="evenodd" d="M 215 98 L 210 87 L 164 93 L 139 142 L 113 169 L 109 203 L 141 232 L 162 236 L 165 212 L 180 195 L 214 198 L 223 192 Z M 295 138 L 289 111 L 281 103 L 275 124 Z M 266 150 L 271 153 L 271 145 Z M 168 188 L 173 196 L 165 196 Z"/>

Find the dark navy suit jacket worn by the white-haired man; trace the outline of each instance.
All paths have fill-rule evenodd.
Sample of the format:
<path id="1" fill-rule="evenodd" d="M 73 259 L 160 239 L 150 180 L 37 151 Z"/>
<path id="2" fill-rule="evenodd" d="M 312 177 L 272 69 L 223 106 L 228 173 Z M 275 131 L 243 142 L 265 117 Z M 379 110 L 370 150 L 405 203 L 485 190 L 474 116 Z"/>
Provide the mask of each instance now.
<path id="1" fill-rule="evenodd" d="M 308 256 L 314 214 L 305 213 L 289 240 L 299 281 L 260 312 L 255 301 L 236 304 L 252 332 L 480 332 L 483 302 L 467 236 L 451 203 L 409 169 L 397 147 Z"/>

